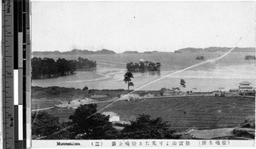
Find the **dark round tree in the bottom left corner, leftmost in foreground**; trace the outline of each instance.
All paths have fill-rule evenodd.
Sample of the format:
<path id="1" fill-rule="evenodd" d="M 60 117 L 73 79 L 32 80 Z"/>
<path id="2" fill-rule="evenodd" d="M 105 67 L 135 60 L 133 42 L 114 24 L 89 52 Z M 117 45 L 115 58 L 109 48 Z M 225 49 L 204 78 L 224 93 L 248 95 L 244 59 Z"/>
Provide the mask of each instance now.
<path id="1" fill-rule="evenodd" d="M 60 128 L 59 117 L 47 112 L 32 113 L 32 135 L 48 136 L 57 132 Z"/>

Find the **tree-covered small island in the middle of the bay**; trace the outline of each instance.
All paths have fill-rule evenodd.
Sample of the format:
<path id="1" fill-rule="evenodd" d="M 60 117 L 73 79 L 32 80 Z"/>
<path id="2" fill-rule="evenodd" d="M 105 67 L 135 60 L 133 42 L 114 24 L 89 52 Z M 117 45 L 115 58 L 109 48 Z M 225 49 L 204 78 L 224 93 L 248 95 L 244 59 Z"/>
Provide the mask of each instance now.
<path id="1" fill-rule="evenodd" d="M 160 66 L 160 62 L 140 61 L 139 63 L 127 63 L 126 69 L 128 72 L 160 71 Z"/>

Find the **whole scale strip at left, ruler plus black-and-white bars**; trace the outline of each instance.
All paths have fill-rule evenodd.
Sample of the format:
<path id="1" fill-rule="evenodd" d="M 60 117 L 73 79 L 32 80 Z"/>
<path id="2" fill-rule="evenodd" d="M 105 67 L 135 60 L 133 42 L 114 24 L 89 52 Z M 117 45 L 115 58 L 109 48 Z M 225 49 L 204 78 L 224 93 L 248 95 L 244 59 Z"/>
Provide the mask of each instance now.
<path id="1" fill-rule="evenodd" d="M 3 148 L 30 147 L 30 3 L 2 0 Z M 31 135 L 29 135 L 31 136 Z"/>

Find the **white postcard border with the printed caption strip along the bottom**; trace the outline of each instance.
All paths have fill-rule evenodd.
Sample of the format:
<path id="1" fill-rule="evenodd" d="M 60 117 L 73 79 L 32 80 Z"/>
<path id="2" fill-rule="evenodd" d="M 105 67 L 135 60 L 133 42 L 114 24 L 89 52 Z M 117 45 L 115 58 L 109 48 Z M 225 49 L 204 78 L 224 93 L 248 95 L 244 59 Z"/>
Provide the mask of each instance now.
<path id="1" fill-rule="evenodd" d="M 36 1 L 49 1 L 49 0 L 31 0 L 32 2 L 36 2 Z M 54 0 L 54 1 L 72 1 L 72 0 Z M 90 1 L 90 0 L 75 0 L 75 1 Z M 109 1 L 109 0 L 93 0 L 93 1 Z M 127 0 L 117 0 L 119 1 L 127 1 Z M 130 0 L 130 1 L 137 1 L 137 0 Z M 143 2 L 148 2 L 148 1 L 154 1 L 154 0 L 140 0 Z M 174 1 L 175 0 L 167 0 L 167 1 Z M 177 1 L 177 0 L 176 0 Z M 195 0 L 186 0 L 189 2 L 193 2 Z M 214 1 L 214 0 L 203 0 L 202 2 L 206 2 L 206 1 Z M 223 0 L 220 0 L 223 1 Z M 246 0 L 225 0 L 224 2 L 229 2 L 229 1 L 246 1 Z M 250 2 L 255 2 L 253 0 L 249 0 Z M 256 7 L 256 5 L 255 5 Z M 256 10 L 256 9 L 255 9 Z M 32 23 L 31 23 L 32 26 Z M 32 28 L 32 27 L 31 27 Z M 255 28 L 256 29 L 256 28 Z M 255 45 L 256 45 L 256 36 L 255 36 Z M 136 142 L 140 142 L 142 141 L 143 144 L 146 143 L 146 141 L 169 141 L 169 142 L 173 142 L 173 141 L 189 141 L 190 142 L 190 146 L 112 146 L 112 142 L 116 141 L 116 142 L 125 142 L 125 141 L 136 141 Z M 207 148 L 231 148 L 231 147 L 246 147 L 247 149 L 250 148 L 255 148 L 255 140 L 226 140 L 229 141 L 229 145 L 227 146 L 218 146 L 218 145 L 212 145 L 212 146 L 201 146 L 200 142 L 202 142 L 203 140 L 32 140 L 32 148 L 80 148 L 80 147 L 86 147 L 86 148 L 99 148 L 99 146 L 93 146 L 93 144 L 95 142 L 102 142 L 100 144 L 102 144 L 102 146 L 100 146 L 100 148 L 123 148 L 123 147 L 129 147 L 129 148 L 137 148 L 137 147 L 143 147 L 143 148 L 152 148 L 152 147 L 172 147 L 172 148 L 177 148 L 177 147 L 183 147 L 183 148 L 190 148 L 190 147 L 207 147 Z M 209 142 L 211 140 L 207 140 L 207 142 Z M 223 140 L 212 140 L 212 141 L 223 141 Z M 80 146 L 57 146 L 57 142 L 73 142 L 73 143 L 80 143 Z"/>

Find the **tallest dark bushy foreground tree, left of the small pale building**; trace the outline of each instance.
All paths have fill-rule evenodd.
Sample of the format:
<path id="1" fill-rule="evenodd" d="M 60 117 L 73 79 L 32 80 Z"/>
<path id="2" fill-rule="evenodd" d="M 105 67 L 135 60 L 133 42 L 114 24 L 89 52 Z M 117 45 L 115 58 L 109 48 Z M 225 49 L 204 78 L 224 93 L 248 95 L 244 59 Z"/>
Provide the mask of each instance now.
<path id="1" fill-rule="evenodd" d="M 96 112 L 96 104 L 79 106 L 69 117 L 72 120 L 71 139 L 114 139 L 117 130 L 109 122 L 109 116 Z"/>

